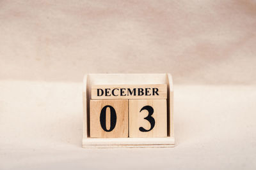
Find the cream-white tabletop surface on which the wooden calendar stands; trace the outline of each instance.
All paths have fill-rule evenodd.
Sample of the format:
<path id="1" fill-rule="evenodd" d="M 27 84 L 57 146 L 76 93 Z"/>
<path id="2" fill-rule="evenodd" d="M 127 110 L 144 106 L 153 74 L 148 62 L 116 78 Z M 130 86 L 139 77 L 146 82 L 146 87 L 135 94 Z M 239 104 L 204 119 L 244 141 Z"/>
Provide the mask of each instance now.
<path id="1" fill-rule="evenodd" d="M 175 85 L 175 148 L 84 149 L 82 83 L 0 81 L 0 169 L 255 169 L 255 86 Z"/>

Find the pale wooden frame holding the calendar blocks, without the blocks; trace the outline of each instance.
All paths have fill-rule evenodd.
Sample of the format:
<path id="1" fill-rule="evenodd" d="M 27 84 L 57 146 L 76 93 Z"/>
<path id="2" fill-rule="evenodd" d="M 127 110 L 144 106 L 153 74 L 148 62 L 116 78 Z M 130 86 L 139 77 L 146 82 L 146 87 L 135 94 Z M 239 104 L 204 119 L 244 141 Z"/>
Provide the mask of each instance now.
<path id="1" fill-rule="evenodd" d="M 90 138 L 90 99 L 92 85 L 167 85 L 166 138 Z M 83 84 L 83 148 L 156 148 L 173 147 L 173 81 L 171 74 L 86 74 Z"/>

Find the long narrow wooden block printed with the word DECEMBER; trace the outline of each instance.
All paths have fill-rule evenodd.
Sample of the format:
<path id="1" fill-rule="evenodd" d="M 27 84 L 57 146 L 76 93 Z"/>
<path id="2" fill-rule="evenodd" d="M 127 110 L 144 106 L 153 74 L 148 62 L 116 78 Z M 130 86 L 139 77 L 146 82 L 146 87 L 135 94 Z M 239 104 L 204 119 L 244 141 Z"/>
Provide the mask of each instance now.
<path id="1" fill-rule="evenodd" d="M 92 99 L 166 99 L 166 84 L 92 85 Z"/>

